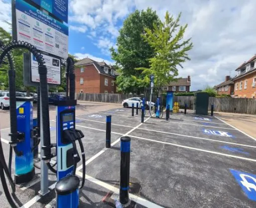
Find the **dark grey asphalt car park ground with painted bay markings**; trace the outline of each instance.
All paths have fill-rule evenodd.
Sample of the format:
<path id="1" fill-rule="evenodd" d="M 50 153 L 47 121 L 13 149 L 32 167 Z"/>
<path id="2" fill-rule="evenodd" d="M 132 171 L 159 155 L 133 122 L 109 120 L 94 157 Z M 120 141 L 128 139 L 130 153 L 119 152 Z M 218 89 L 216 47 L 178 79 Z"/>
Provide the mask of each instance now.
<path id="1" fill-rule="evenodd" d="M 109 149 L 105 148 L 107 114 L 112 115 L 114 142 Z M 141 124 L 140 113 L 131 114 L 131 108 L 117 107 L 76 116 L 76 128 L 85 134 L 87 161 L 79 207 L 100 207 L 109 192 L 118 193 L 122 135 L 132 139 L 130 176 L 140 189 L 130 198 L 137 201 L 136 207 L 256 207 L 256 141 L 251 137 L 212 116 L 173 113 L 166 121 L 147 113 Z M 51 140 L 56 142 L 54 116 L 50 125 Z M 1 137 L 9 140 L 8 133 L 9 129 L 1 130 Z M 7 159 L 8 145 L 3 145 Z M 81 168 L 77 174 L 81 175 Z M 53 174 L 49 178 L 49 185 L 56 181 Z M 20 206 L 39 190 L 40 182 L 25 190 L 17 188 Z M 2 206 L 9 207 L 2 187 L 0 191 Z M 27 207 L 50 207 L 54 197 L 52 190 Z"/>

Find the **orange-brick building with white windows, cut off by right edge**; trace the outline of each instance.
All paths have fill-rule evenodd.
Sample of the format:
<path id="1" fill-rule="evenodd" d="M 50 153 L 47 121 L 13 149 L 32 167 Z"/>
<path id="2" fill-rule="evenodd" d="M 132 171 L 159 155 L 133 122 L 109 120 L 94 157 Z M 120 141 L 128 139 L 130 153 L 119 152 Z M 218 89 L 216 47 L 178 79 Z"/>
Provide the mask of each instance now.
<path id="1" fill-rule="evenodd" d="M 242 63 L 236 69 L 234 82 L 234 97 L 256 97 L 256 55 Z"/>

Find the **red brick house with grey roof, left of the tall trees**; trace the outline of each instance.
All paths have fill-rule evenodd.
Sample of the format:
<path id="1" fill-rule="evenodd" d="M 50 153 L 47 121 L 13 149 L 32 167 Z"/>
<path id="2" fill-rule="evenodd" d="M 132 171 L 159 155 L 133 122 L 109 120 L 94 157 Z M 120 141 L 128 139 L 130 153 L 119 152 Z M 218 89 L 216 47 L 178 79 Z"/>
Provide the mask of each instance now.
<path id="1" fill-rule="evenodd" d="M 115 68 L 104 61 L 90 58 L 79 60 L 75 64 L 76 92 L 115 93 Z"/>

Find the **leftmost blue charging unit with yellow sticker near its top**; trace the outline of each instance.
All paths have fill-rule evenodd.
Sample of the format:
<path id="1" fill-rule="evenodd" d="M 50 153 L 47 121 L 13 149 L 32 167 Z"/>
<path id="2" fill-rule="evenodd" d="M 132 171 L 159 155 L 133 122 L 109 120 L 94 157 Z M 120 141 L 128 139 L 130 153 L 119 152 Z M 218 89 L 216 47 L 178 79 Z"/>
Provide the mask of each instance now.
<path id="1" fill-rule="evenodd" d="M 16 97 L 17 130 L 20 142 L 16 148 L 20 155 L 15 155 L 15 182 L 29 182 L 35 175 L 33 152 L 33 98 Z"/>

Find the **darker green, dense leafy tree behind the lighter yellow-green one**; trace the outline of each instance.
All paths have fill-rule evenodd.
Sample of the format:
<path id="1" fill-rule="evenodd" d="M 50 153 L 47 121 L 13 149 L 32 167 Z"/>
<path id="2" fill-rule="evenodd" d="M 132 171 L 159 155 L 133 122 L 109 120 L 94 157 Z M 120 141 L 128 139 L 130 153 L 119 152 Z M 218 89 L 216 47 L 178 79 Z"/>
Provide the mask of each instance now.
<path id="1" fill-rule="evenodd" d="M 136 10 L 123 22 L 116 40 L 117 50 L 110 48 L 112 59 L 119 68 L 119 76 L 116 80 L 117 90 L 129 93 L 140 93 L 144 84 L 132 78 L 132 75 L 143 78 L 142 71 L 135 70 L 138 67 L 149 67 L 149 58 L 154 57 L 154 49 L 144 41 L 142 34 L 145 27 L 153 29 L 153 23 L 159 24 L 160 20 L 151 8 Z M 123 82 L 127 83 L 123 83 Z"/>

